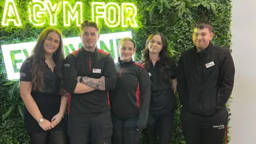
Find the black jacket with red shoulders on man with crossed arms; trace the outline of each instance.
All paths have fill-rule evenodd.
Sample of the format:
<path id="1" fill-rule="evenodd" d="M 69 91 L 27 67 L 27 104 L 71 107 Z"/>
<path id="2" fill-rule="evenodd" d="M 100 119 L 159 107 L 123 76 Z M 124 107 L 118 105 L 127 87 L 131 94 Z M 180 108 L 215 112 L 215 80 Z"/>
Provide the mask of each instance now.
<path id="1" fill-rule="evenodd" d="M 97 73 L 95 73 L 95 69 Z M 69 115 L 93 116 L 110 110 L 108 90 L 116 86 L 115 62 L 103 50 L 85 51 L 83 47 L 67 55 L 62 68 L 63 85 L 69 97 Z M 106 91 L 94 90 L 87 93 L 74 93 L 78 76 L 100 78 L 105 76 Z"/>

